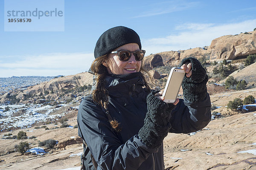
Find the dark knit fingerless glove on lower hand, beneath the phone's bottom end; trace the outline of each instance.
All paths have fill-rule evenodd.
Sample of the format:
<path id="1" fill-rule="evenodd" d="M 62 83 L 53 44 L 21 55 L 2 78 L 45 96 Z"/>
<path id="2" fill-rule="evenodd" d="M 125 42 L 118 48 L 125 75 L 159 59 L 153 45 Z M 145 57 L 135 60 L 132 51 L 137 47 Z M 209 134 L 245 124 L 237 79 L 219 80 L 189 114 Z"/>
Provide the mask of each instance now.
<path id="1" fill-rule="evenodd" d="M 147 96 L 148 112 L 144 119 L 144 125 L 139 131 L 140 139 L 150 148 L 158 148 L 167 136 L 171 124 L 171 111 L 175 108 L 173 104 L 167 104 L 158 99 L 152 91 Z M 168 108 L 169 112 L 166 112 Z"/>

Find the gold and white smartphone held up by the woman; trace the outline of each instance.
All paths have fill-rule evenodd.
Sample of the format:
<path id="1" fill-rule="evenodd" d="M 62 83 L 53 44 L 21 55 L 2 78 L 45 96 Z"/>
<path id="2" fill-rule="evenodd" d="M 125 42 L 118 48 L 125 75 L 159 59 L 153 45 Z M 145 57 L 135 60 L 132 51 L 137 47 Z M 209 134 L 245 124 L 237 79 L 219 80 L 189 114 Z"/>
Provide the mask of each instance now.
<path id="1" fill-rule="evenodd" d="M 184 76 L 185 71 L 183 69 L 175 67 L 171 69 L 163 91 L 164 102 L 174 103 L 176 101 Z"/>

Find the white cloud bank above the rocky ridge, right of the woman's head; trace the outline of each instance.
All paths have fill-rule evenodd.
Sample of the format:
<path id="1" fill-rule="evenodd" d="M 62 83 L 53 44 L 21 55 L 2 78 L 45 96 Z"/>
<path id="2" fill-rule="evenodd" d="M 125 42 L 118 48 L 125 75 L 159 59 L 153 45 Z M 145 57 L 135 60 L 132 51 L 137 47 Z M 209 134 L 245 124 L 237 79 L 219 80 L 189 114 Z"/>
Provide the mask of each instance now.
<path id="1" fill-rule="evenodd" d="M 186 50 L 195 47 L 204 47 L 211 44 L 215 38 L 230 35 L 240 34 L 244 31 L 253 31 L 256 27 L 256 20 L 246 20 L 240 23 L 226 23 L 222 25 L 204 24 L 203 28 L 198 28 L 200 24 L 190 24 L 190 29 L 182 30 L 175 35 L 168 35 L 162 38 L 152 38 L 143 40 L 143 48 L 148 49 L 148 54 L 156 53 L 153 49 L 165 49 L 164 51 Z"/>

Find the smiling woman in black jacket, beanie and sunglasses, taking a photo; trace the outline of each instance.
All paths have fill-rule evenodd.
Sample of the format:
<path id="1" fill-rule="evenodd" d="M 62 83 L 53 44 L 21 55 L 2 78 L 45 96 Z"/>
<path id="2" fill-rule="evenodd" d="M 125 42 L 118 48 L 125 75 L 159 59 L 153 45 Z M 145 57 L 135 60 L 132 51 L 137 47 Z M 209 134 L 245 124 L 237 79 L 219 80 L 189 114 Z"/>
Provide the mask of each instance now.
<path id="1" fill-rule="evenodd" d="M 195 132 L 209 123 L 208 77 L 200 62 L 183 59 L 185 99 L 167 104 L 142 74 L 144 54 L 130 28 L 114 27 L 99 37 L 91 65 L 96 84 L 77 116 L 79 136 L 87 144 L 84 169 L 163 170 L 167 133 Z"/>

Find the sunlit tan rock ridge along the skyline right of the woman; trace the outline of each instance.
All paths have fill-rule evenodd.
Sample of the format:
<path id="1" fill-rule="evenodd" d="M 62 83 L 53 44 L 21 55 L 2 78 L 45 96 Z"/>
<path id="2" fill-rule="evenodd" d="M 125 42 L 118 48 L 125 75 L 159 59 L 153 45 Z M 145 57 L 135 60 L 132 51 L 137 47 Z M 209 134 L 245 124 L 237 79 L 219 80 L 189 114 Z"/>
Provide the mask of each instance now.
<path id="1" fill-rule="evenodd" d="M 146 68 L 153 68 L 154 65 L 165 65 L 166 63 L 178 65 L 180 59 L 186 57 L 207 57 L 210 60 L 234 60 L 246 58 L 250 54 L 256 54 L 256 31 L 216 38 L 212 40 L 209 47 L 151 54 L 146 57 Z"/>

